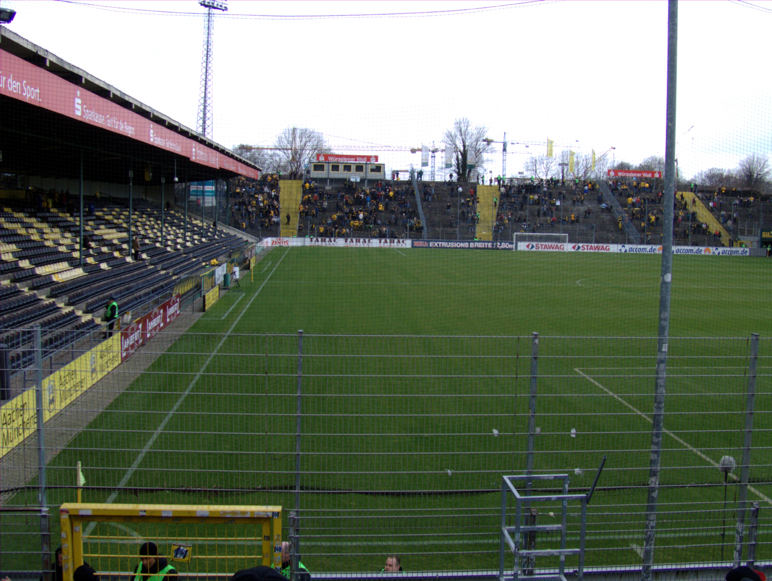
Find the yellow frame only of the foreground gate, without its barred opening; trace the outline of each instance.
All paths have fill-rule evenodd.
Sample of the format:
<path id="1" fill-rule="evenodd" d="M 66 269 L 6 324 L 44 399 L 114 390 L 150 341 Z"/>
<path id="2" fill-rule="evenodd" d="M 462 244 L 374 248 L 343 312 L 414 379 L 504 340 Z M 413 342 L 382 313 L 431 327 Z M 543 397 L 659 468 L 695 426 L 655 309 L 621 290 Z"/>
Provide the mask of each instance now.
<path id="1" fill-rule="evenodd" d="M 262 564 L 281 570 L 282 507 L 242 505 L 107 505 L 66 502 L 59 508 L 62 525 L 63 581 L 83 565 L 83 522 L 174 522 L 261 524 Z M 235 573 L 233 571 L 232 573 Z"/>

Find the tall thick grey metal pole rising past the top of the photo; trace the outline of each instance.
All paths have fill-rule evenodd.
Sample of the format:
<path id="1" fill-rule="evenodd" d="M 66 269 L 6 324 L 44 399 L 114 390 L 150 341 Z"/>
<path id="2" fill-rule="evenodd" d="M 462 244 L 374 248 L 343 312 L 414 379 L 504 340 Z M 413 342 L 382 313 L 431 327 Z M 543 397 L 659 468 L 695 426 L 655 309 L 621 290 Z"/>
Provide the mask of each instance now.
<path id="1" fill-rule="evenodd" d="M 670 290 L 672 285 L 673 201 L 675 199 L 675 90 L 678 64 L 678 0 L 668 2 L 668 76 L 665 107 L 665 195 L 662 200 L 662 278 L 659 282 L 659 328 L 657 368 L 652 414 L 652 448 L 648 464 L 648 498 L 644 525 L 642 581 L 652 581 L 657 526 L 657 497 L 665 420 L 665 383 L 670 335 Z"/>

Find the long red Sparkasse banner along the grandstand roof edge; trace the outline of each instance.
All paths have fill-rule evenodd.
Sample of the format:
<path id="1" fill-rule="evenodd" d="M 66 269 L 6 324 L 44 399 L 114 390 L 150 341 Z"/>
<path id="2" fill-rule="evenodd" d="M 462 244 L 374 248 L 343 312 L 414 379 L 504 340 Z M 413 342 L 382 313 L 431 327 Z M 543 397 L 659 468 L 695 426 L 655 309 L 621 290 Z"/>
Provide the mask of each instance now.
<path id="1" fill-rule="evenodd" d="M 0 93 L 70 119 L 185 155 L 197 164 L 222 167 L 245 177 L 259 177 L 252 167 L 240 164 L 232 157 L 174 133 L 95 93 L 79 89 L 77 85 L 4 50 L 0 50 Z"/>

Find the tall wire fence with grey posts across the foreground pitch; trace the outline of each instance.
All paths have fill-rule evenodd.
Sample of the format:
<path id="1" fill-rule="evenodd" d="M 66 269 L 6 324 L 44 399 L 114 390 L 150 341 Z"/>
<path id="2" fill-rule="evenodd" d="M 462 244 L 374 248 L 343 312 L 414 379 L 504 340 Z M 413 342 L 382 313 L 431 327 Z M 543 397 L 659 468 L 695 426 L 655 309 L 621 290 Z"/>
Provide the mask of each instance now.
<path id="1" fill-rule="evenodd" d="M 655 338 L 163 336 L 137 352 L 141 370 L 124 363 L 97 384 L 105 405 L 76 400 L 43 428 L 53 512 L 75 500 L 80 461 L 84 502 L 295 510 L 313 572 L 377 572 L 393 554 L 410 571 L 497 575 L 503 475 L 567 474 L 581 494 L 605 454 L 585 566 L 640 570 Z M 768 339 L 669 340 L 657 566 L 726 569 L 772 554 L 769 370 Z M 2 458 L 5 507 L 38 505 L 36 456 L 18 460 L 36 445 L 32 434 Z M 560 524 L 559 507 L 534 508 L 540 525 Z M 4 539 L 0 569 L 37 574 L 38 524 L 19 518 L 2 515 L 4 534 L 6 524 L 20 534 Z"/>

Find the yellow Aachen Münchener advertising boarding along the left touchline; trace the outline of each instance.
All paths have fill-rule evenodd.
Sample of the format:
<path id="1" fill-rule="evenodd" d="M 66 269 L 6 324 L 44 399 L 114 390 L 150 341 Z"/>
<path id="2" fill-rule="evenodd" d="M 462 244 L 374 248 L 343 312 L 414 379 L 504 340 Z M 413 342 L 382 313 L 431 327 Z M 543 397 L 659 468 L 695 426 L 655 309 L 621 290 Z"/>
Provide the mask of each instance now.
<path id="1" fill-rule="evenodd" d="M 43 379 L 43 421 L 49 421 L 80 394 L 120 363 L 120 334 L 116 333 L 76 360 Z M 36 430 L 35 389 L 0 407 L 0 458 Z"/>

